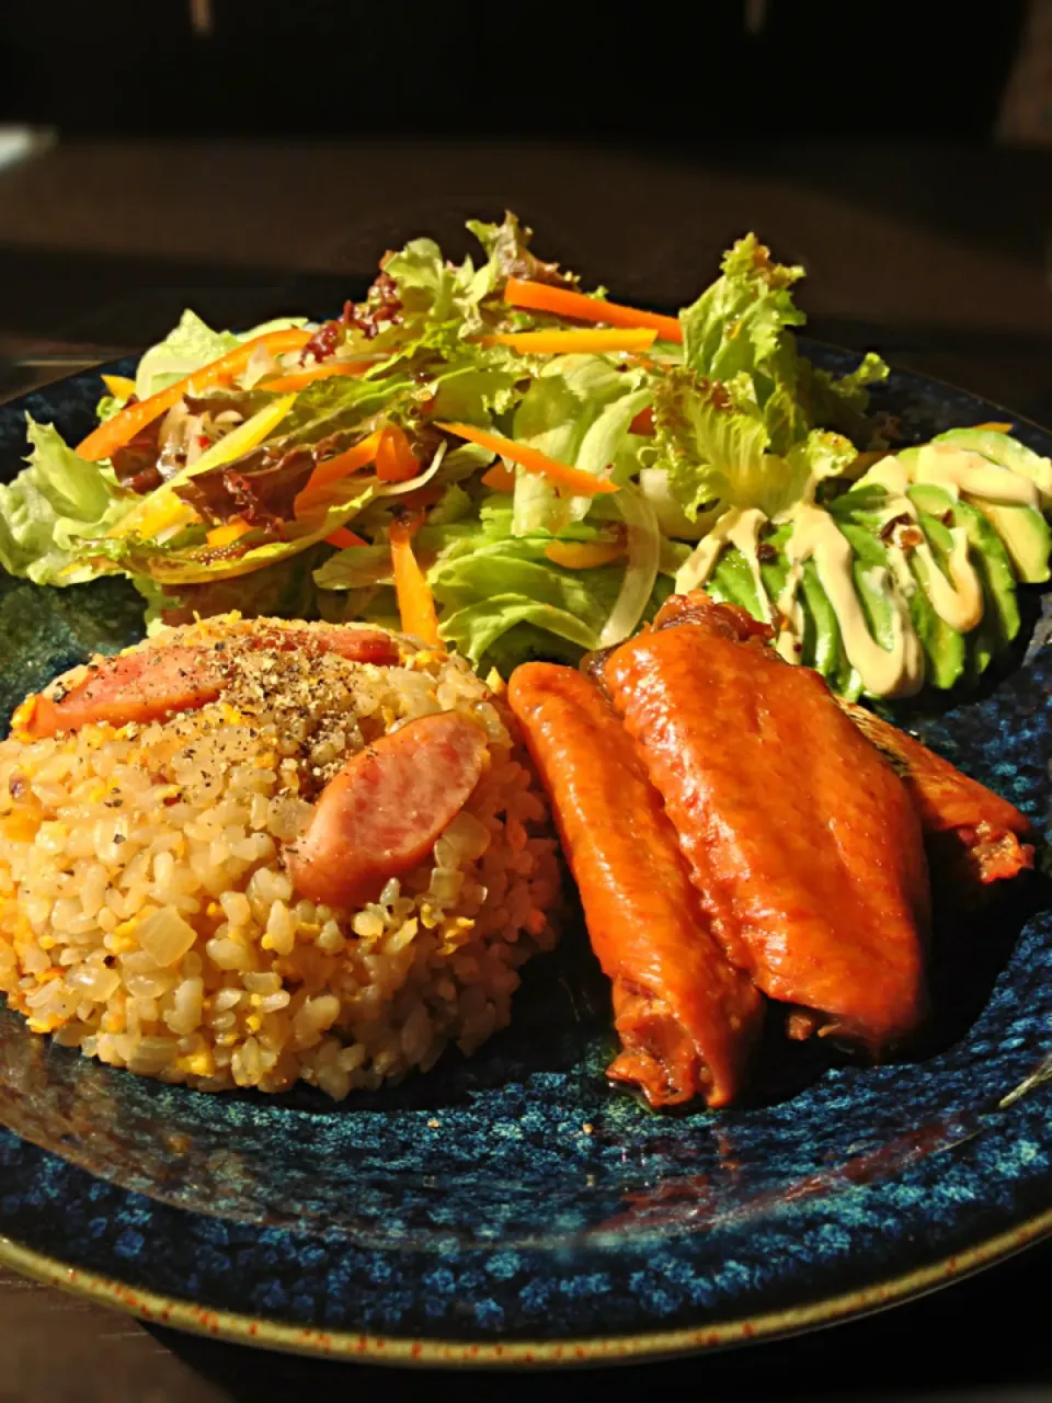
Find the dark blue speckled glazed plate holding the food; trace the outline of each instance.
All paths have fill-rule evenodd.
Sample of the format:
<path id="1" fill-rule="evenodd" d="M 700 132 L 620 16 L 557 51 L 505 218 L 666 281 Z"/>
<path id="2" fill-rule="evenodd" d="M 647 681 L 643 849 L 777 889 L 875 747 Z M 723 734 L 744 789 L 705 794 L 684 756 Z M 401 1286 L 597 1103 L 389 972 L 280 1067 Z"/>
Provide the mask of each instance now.
<path id="1" fill-rule="evenodd" d="M 86 375 L 0 408 L 0 474 L 22 410 L 76 438 L 97 396 Z M 908 436 L 1006 417 L 902 373 L 882 398 Z M 1044 599 L 1024 610 L 982 693 L 909 724 L 1041 826 L 1052 650 Z M 139 620 L 119 584 L 0 575 L 0 713 Z M 1049 908 L 1038 873 L 954 933 L 909 1062 L 771 1044 L 752 1101 L 720 1114 L 607 1089 L 609 995 L 579 927 L 473 1061 L 342 1106 L 139 1080 L 0 1012 L 0 1260 L 188 1329 L 457 1365 L 665 1355 L 908 1298 L 1052 1228 Z"/>

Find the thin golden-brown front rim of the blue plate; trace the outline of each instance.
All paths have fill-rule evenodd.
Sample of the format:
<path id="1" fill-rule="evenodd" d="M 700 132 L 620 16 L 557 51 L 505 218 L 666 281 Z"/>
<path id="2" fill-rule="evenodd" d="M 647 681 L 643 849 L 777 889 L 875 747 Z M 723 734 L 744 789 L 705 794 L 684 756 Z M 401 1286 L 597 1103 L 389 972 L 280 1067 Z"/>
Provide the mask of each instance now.
<path id="1" fill-rule="evenodd" d="M 210 1309 L 180 1296 L 132 1288 L 115 1277 L 65 1266 L 58 1257 L 0 1235 L 0 1266 L 94 1301 L 146 1324 L 182 1330 L 282 1354 L 411 1368 L 551 1369 L 647 1364 L 704 1354 L 742 1344 L 802 1334 L 822 1326 L 857 1320 L 993 1267 L 1052 1237 L 1052 1208 L 994 1233 L 964 1251 L 943 1257 L 875 1285 L 823 1296 L 804 1306 L 785 1306 L 735 1320 L 648 1330 L 638 1334 L 585 1336 L 568 1340 L 466 1341 L 387 1336 L 372 1331 L 316 1330 L 267 1320 L 237 1310 Z"/>

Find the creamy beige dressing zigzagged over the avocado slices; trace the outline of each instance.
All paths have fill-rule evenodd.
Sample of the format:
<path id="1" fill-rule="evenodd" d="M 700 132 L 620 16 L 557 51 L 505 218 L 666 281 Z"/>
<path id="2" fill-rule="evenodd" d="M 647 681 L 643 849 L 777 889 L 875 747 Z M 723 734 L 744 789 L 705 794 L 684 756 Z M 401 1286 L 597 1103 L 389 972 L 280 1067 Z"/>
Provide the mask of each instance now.
<path id="1" fill-rule="evenodd" d="M 980 453 L 950 443 L 929 443 L 903 462 L 888 456 L 875 463 L 857 485 L 879 485 L 888 494 L 884 521 L 919 513 L 908 495 L 912 484 L 941 487 L 951 497 L 978 498 L 989 502 L 1025 505 L 1039 509 L 1038 487 L 1014 469 L 990 463 Z M 784 546 L 788 561 L 785 584 L 771 607 L 760 572 L 760 530 L 767 518 L 757 508 L 728 508 L 710 533 L 699 542 L 676 575 L 676 589 L 686 593 L 710 578 L 725 546 L 735 546 L 749 567 L 766 623 L 780 624 L 774 643 L 787 662 L 800 661 L 804 637 L 804 606 L 800 585 L 804 564 L 815 561 L 818 578 L 833 607 L 849 662 L 861 678 L 863 687 L 878 697 L 910 696 L 924 682 L 924 652 L 909 612 L 909 598 L 920 588 L 909 564 L 915 553 L 926 567 L 924 592 L 931 607 L 957 633 L 969 633 L 982 620 L 983 591 L 978 571 L 969 560 L 968 533 L 951 526 L 952 547 L 944 574 L 927 540 L 908 549 L 893 540 L 885 543 L 888 568 L 867 577 L 884 593 L 891 607 L 892 644 L 884 648 L 870 633 L 861 600 L 856 591 L 853 554 L 847 537 L 833 518 L 815 506 L 814 484 L 805 499 L 777 518 L 791 522 L 793 532 Z"/>

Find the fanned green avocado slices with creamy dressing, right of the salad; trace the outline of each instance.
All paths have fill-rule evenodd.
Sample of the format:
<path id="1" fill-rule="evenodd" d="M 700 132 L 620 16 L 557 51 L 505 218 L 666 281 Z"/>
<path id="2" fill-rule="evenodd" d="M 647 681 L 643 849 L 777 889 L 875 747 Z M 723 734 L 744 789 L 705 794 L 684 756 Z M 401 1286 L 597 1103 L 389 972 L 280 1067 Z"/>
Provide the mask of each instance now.
<path id="1" fill-rule="evenodd" d="M 815 502 L 816 484 L 808 483 L 802 499 L 773 519 L 755 506 L 731 506 L 680 568 L 676 588 L 711 582 L 718 596 L 774 623 L 787 661 L 830 676 L 846 659 L 854 686 L 840 689 L 849 693 L 910 696 L 926 679 L 952 686 L 969 641 L 982 671 L 1017 633 L 1014 577 L 1049 578 L 1049 528 L 1039 509 L 1046 460 L 1000 450 L 993 441 L 1002 438 L 959 431 L 888 455 L 828 504 Z M 721 563 L 725 551 L 741 556 L 745 574 Z M 774 591 L 762 553 L 785 563 Z M 805 591 L 809 563 L 815 579 Z M 815 585 L 829 606 L 821 619 Z"/>

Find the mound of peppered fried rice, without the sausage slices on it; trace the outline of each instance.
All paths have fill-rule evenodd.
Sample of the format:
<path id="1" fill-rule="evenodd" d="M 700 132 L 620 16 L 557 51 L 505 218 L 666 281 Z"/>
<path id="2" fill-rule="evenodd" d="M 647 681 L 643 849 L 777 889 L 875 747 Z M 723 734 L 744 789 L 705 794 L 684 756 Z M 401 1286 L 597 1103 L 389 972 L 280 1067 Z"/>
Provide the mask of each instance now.
<path id="1" fill-rule="evenodd" d="M 460 659 L 398 638 L 398 665 L 351 662 L 302 645 L 328 626 L 286 627 L 154 640 L 210 648 L 222 694 L 201 710 L 0 742 L 0 991 L 34 1031 L 166 1082 L 339 1099 L 508 1023 L 558 906 L 511 714 Z M 355 911 L 303 899 L 283 854 L 321 788 L 443 710 L 483 724 L 488 765 L 426 860 Z"/>

